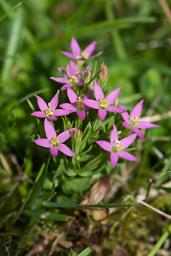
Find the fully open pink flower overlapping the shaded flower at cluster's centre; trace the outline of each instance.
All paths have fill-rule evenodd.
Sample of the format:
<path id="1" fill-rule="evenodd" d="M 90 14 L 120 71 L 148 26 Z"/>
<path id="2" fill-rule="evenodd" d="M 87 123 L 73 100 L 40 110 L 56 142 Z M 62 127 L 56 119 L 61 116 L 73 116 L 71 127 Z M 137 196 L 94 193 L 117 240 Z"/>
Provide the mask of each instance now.
<path id="1" fill-rule="evenodd" d="M 121 89 L 122 87 L 115 89 L 114 91 L 110 92 L 110 94 L 107 95 L 107 97 L 105 98 L 100 85 L 95 80 L 94 91 L 95 91 L 96 101 L 85 99 L 83 100 L 83 103 L 85 103 L 85 105 L 87 105 L 90 108 L 98 109 L 98 115 L 99 115 L 100 121 L 102 122 L 103 120 L 105 120 L 107 111 L 117 112 L 117 113 L 125 112 L 125 110 L 123 110 L 122 108 L 118 108 L 111 105 L 119 96 Z"/>

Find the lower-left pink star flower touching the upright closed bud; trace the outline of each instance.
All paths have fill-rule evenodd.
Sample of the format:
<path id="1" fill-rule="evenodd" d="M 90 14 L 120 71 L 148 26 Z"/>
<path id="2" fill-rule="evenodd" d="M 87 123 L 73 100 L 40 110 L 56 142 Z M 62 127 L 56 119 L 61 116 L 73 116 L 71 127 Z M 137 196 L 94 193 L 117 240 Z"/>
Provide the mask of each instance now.
<path id="1" fill-rule="evenodd" d="M 71 129 L 66 130 L 57 136 L 55 128 L 51 124 L 51 122 L 45 118 L 44 121 L 45 133 L 47 139 L 35 139 L 35 143 L 39 146 L 43 146 L 45 148 L 50 148 L 51 154 L 55 157 L 58 155 L 58 150 L 68 156 L 75 156 L 71 149 L 68 148 L 64 141 L 66 141 L 69 137 L 71 137 Z M 75 128 L 72 129 L 73 131 Z"/>

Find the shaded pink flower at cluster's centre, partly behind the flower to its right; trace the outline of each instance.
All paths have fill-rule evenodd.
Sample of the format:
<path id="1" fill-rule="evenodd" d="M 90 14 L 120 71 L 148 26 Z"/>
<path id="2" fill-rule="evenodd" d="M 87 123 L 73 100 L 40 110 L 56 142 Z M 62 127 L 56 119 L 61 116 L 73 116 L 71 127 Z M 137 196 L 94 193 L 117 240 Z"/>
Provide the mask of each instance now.
<path id="1" fill-rule="evenodd" d="M 86 93 L 86 95 L 81 99 L 76 95 L 76 93 L 71 89 L 67 88 L 67 95 L 71 102 L 70 103 L 62 103 L 59 107 L 63 108 L 64 110 L 69 110 L 71 112 L 76 112 L 76 114 L 84 120 L 86 117 L 85 110 L 89 110 L 89 107 L 85 106 L 82 102 L 84 99 L 90 98 L 90 90 Z"/>

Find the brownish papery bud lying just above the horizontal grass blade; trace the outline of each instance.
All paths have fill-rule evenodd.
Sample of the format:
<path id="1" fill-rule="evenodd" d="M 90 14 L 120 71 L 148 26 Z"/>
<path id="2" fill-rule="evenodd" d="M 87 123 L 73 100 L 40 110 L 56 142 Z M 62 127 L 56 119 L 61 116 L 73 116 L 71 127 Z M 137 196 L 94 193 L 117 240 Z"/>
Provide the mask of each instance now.
<path id="1" fill-rule="evenodd" d="M 91 188 L 90 203 L 98 204 L 109 189 L 109 181 L 105 178 L 100 178 Z"/>

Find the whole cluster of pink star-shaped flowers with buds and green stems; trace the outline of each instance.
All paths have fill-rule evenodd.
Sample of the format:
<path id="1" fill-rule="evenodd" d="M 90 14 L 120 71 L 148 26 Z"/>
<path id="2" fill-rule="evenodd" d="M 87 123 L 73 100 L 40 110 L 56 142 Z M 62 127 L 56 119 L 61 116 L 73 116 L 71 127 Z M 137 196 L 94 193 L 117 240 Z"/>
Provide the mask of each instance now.
<path id="1" fill-rule="evenodd" d="M 34 111 L 31 115 L 39 118 L 45 118 L 44 129 L 47 138 L 37 138 L 34 142 L 37 145 L 49 148 L 51 154 L 54 155 L 55 157 L 58 155 L 58 150 L 67 156 L 75 157 L 75 161 L 80 168 L 78 160 L 82 154 L 82 150 L 86 146 L 86 143 L 88 141 L 89 143 L 96 141 L 96 143 L 102 149 L 104 149 L 107 152 L 110 152 L 110 162 L 112 168 L 114 168 L 117 164 L 119 156 L 129 161 L 139 161 L 135 156 L 129 154 L 127 151 L 124 151 L 124 149 L 126 149 L 130 144 L 132 144 L 137 136 L 145 140 L 144 135 L 140 131 L 140 128 L 153 128 L 158 127 L 158 125 L 151 124 L 149 122 L 139 121 L 141 111 L 143 108 L 143 100 L 141 100 L 134 107 L 130 115 L 128 114 L 126 108 L 124 108 L 122 104 L 116 105 L 116 100 L 119 97 L 122 87 L 116 88 L 107 96 L 105 96 L 106 91 L 102 90 L 101 88 L 101 86 L 105 84 L 105 80 L 107 79 L 107 67 L 104 63 L 102 63 L 102 67 L 104 70 L 102 70 L 102 72 L 100 73 L 99 80 L 95 80 L 93 87 L 91 86 L 92 83 L 89 83 L 90 79 L 92 78 L 91 67 L 87 66 L 83 68 L 83 64 L 86 60 L 97 57 L 102 53 L 102 51 L 100 51 L 98 54 L 92 55 L 93 51 L 95 50 L 96 43 L 96 41 L 92 42 L 83 51 L 81 51 L 78 42 L 74 37 L 72 37 L 72 53 L 62 51 L 62 53 L 65 56 L 72 58 L 76 62 L 72 60 L 70 61 L 70 64 L 67 64 L 64 68 L 58 68 L 59 72 L 62 75 L 64 75 L 64 78 L 50 78 L 56 82 L 64 83 L 64 85 L 61 87 L 61 90 L 64 91 L 62 96 L 63 98 L 65 98 L 64 95 L 66 92 L 66 101 L 68 101 L 69 99 L 70 103 L 65 101 L 64 103 L 61 103 L 59 105 L 60 108 L 57 109 L 60 90 L 57 91 L 55 96 L 48 104 L 46 104 L 46 102 L 40 96 L 35 95 L 35 97 L 37 97 L 37 103 L 40 108 L 40 111 Z M 81 68 L 83 70 L 81 70 Z M 89 81 L 87 81 L 88 78 Z M 102 82 L 101 86 L 100 82 Z M 82 91 L 79 91 L 79 85 L 82 85 Z M 103 91 L 105 92 L 105 94 Z M 72 128 L 70 126 L 68 127 L 69 129 L 65 129 L 65 127 L 64 131 L 57 135 L 53 121 L 56 121 L 57 117 L 59 116 L 69 115 L 70 118 L 71 113 L 76 113 L 76 119 L 74 123 L 76 127 Z M 124 121 L 122 122 L 122 129 L 120 130 L 120 139 L 118 137 L 119 133 L 117 131 L 116 123 L 112 122 L 112 127 L 109 128 L 109 134 L 105 134 L 105 138 L 107 139 L 109 139 L 110 135 L 110 142 L 103 139 L 97 140 L 97 138 L 100 137 L 100 130 L 103 129 L 103 121 L 106 119 L 106 116 L 110 120 L 114 120 L 112 119 L 115 115 L 113 113 L 121 114 L 120 118 L 124 119 Z M 73 115 L 74 114 L 72 114 L 72 116 Z M 92 124 L 89 125 L 89 130 L 88 125 L 86 124 L 86 117 L 87 121 L 92 122 Z M 66 117 L 65 120 L 67 120 Z M 85 131 L 81 131 L 83 126 L 83 120 L 85 120 L 85 125 L 87 125 Z M 60 128 L 61 127 L 58 127 L 59 130 Z M 134 133 L 125 138 L 122 138 L 122 132 L 124 131 L 124 133 L 126 133 L 129 132 L 129 130 L 132 130 Z M 71 136 L 72 150 L 63 143 Z M 90 141 L 91 136 L 93 137 L 92 141 Z M 91 144 L 85 152 L 89 152 L 92 148 L 93 144 Z M 96 148 L 98 148 L 98 146 L 96 146 Z M 97 156 L 94 162 L 96 162 L 96 159 L 98 157 L 101 157 L 102 159 L 103 154 L 102 156 Z"/>

